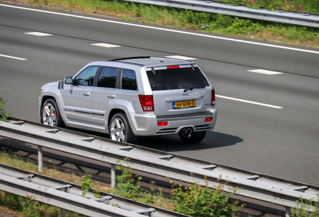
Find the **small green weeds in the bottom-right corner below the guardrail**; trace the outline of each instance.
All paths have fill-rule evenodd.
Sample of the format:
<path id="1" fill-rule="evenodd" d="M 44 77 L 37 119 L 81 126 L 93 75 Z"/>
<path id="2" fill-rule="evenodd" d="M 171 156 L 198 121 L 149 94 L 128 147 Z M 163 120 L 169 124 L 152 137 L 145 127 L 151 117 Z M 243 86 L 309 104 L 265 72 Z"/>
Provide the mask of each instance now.
<path id="1" fill-rule="evenodd" d="M 319 216 L 319 194 L 317 201 L 310 199 L 308 201 L 300 198 L 296 201 L 297 205 L 291 209 L 291 217 L 317 217 Z M 314 207 L 312 212 L 309 212 L 310 205 Z"/>

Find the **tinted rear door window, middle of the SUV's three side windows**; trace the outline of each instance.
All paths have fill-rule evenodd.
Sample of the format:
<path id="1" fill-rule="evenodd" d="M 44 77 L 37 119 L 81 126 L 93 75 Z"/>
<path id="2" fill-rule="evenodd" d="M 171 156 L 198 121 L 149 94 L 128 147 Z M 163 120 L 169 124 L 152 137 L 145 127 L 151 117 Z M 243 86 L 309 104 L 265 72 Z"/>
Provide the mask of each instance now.
<path id="1" fill-rule="evenodd" d="M 97 86 L 115 88 L 117 71 L 117 68 L 103 67 L 97 81 Z"/>

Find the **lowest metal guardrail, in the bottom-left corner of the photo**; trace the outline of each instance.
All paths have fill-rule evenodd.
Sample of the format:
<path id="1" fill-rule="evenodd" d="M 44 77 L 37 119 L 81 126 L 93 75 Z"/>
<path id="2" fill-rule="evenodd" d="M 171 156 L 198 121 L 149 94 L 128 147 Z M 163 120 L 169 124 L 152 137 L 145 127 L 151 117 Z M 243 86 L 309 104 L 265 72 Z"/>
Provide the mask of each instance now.
<path id="1" fill-rule="evenodd" d="M 105 192 L 82 197 L 81 186 L 0 164 L 0 190 L 92 217 L 187 217 Z M 63 212 L 63 210 L 61 210 Z"/>

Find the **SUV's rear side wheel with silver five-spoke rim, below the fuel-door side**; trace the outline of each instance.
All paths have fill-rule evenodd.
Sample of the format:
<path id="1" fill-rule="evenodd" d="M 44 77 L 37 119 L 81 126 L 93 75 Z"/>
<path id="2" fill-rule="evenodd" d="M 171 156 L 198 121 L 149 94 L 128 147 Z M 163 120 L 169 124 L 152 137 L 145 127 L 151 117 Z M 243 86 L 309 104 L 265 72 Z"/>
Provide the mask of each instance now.
<path id="1" fill-rule="evenodd" d="M 109 124 L 108 131 L 110 139 L 134 144 L 137 142 L 137 137 L 134 135 L 127 117 L 123 113 L 115 114 Z"/>

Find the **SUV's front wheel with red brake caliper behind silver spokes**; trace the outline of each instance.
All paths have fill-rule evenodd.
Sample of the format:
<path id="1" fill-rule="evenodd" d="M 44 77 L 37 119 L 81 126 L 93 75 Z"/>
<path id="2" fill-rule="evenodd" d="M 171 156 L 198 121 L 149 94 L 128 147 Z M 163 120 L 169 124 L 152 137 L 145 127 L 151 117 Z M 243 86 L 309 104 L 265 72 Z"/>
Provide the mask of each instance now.
<path id="1" fill-rule="evenodd" d="M 54 99 L 47 99 L 41 108 L 41 123 L 53 127 L 64 127 L 59 107 Z"/>

